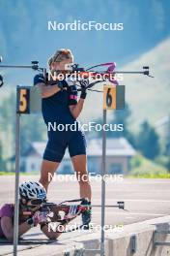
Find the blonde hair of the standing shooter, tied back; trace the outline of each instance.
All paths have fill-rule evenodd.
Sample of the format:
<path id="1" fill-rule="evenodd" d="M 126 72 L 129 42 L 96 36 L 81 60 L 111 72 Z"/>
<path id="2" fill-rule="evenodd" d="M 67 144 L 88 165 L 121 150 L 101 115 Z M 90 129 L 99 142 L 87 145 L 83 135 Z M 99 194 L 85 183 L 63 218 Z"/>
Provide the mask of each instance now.
<path id="1" fill-rule="evenodd" d="M 52 62 L 61 62 L 62 60 L 71 58 L 73 59 L 71 49 L 60 48 L 48 59 L 49 68 L 51 67 Z"/>

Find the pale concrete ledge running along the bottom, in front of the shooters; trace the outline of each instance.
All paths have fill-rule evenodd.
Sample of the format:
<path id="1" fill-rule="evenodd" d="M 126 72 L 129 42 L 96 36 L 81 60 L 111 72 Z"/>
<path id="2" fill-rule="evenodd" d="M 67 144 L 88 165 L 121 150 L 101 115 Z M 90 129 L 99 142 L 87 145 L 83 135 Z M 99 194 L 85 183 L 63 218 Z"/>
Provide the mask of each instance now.
<path id="1" fill-rule="evenodd" d="M 156 231 L 170 230 L 170 215 L 159 217 L 125 226 L 122 230 L 107 230 L 105 232 L 105 256 L 169 256 L 170 247 L 156 246 L 155 241 L 166 242 L 168 234 L 159 234 Z M 93 256 L 89 250 L 99 250 L 100 233 L 76 233 L 77 237 L 59 240 L 57 242 L 24 249 L 18 252 L 19 256 Z M 170 238 L 169 238 L 170 240 Z M 86 251 L 88 250 L 88 251 Z M 6 254 L 12 256 L 13 254 Z"/>

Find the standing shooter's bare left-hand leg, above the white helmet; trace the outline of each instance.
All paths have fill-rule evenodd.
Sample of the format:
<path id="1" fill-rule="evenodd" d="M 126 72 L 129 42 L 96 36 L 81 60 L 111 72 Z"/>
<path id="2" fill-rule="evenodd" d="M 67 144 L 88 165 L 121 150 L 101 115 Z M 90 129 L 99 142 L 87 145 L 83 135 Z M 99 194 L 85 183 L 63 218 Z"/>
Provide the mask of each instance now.
<path id="1" fill-rule="evenodd" d="M 57 168 L 59 167 L 59 165 L 60 165 L 59 162 L 52 162 L 45 159 L 42 160 L 40 182 L 42 183 L 46 191 L 52 179 L 52 176 L 54 176 L 54 173 L 57 171 Z"/>

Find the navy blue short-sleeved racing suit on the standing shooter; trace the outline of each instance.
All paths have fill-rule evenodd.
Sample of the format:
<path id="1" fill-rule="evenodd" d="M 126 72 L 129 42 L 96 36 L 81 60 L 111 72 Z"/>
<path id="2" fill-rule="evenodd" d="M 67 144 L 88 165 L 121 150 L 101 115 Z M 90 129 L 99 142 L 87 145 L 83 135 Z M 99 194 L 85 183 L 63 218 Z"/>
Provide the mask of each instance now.
<path id="1" fill-rule="evenodd" d="M 34 78 L 34 85 L 39 82 L 44 82 L 41 74 Z M 75 85 L 68 86 L 66 90 L 61 90 L 50 97 L 42 98 L 42 116 L 48 127 L 48 142 L 43 159 L 61 162 L 67 147 L 71 157 L 86 154 L 84 133 L 78 129 L 78 121 L 71 115 L 69 108 L 76 104 L 77 89 Z M 76 125 L 75 131 L 70 126 L 73 123 Z M 54 131 L 52 127 L 57 129 Z"/>

